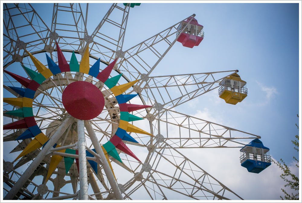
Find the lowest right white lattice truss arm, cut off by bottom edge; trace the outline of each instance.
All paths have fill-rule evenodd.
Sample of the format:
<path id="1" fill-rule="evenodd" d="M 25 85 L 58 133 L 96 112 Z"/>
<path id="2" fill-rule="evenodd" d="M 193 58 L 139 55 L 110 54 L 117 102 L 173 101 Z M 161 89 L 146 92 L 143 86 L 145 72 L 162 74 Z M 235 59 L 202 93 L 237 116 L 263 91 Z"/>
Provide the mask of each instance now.
<path id="1" fill-rule="evenodd" d="M 188 199 L 242 199 L 166 141 L 156 142 L 149 149 L 146 162 L 151 169 L 144 174 L 146 178 L 124 184 L 125 198 L 141 193 L 152 200 L 178 199 L 179 195 Z"/>

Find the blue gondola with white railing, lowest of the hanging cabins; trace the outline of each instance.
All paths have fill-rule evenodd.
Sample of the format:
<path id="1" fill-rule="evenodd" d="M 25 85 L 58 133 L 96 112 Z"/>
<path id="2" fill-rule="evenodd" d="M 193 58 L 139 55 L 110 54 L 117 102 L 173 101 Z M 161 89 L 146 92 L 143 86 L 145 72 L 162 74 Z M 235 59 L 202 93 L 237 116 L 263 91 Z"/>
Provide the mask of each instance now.
<path id="1" fill-rule="evenodd" d="M 240 163 L 251 173 L 260 173 L 271 165 L 269 148 L 258 138 L 252 140 L 240 149 Z"/>

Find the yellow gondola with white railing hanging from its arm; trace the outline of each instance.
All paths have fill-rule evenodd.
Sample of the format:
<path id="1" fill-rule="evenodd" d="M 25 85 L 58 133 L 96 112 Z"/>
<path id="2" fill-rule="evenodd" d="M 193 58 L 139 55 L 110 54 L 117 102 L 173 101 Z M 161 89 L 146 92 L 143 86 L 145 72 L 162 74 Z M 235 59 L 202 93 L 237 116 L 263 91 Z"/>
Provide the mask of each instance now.
<path id="1" fill-rule="evenodd" d="M 237 104 L 247 96 L 246 81 L 241 80 L 237 73 L 224 78 L 219 85 L 219 97 L 224 99 L 226 103 Z"/>

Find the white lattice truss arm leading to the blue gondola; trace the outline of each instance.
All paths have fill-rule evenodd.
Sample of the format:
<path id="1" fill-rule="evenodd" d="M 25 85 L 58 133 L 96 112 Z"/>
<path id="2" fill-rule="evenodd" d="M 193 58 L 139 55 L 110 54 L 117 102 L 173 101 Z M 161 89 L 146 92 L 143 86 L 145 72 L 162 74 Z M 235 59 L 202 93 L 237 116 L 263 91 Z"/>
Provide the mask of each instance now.
<path id="1" fill-rule="evenodd" d="M 243 147 L 251 139 L 261 138 L 225 125 L 164 109 L 153 121 L 166 142 L 174 148 Z"/>

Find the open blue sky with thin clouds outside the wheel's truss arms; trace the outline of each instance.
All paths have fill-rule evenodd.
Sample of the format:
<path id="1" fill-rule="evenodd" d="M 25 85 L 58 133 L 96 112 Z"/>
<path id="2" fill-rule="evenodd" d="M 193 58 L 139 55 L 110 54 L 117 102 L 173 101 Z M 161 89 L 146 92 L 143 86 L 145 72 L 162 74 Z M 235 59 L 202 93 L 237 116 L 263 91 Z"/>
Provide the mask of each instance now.
<path id="1" fill-rule="evenodd" d="M 53 4 L 32 5 L 51 27 Z M 110 6 L 109 3 L 89 4 L 88 34 L 92 34 Z M 243 102 L 236 106 L 226 104 L 216 89 L 175 110 L 260 135 L 273 158 L 282 158 L 290 164 L 293 156 L 298 157 L 291 140 L 298 134 L 295 123 L 299 123 L 296 115 L 300 111 L 299 4 L 142 3 L 130 10 L 124 49 L 193 13 L 198 23 L 204 26 L 204 40 L 193 49 L 176 42 L 151 76 L 238 69 L 248 88 L 248 96 Z M 215 150 L 211 149 L 211 154 L 219 156 L 223 150 L 229 149 L 217 150 L 216 153 Z M 226 154 L 233 156 L 230 160 L 238 160 L 240 165 L 239 149 L 236 150 Z M 213 156 L 212 159 L 223 161 L 221 157 Z M 276 167 L 266 169 L 269 170 L 278 174 Z M 219 174 L 215 171 L 213 173 Z M 208 172 L 212 174 L 211 168 Z M 279 175 L 275 178 L 280 179 Z M 276 184 L 281 188 L 285 183 L 276 180 Z M 279 199 L 282 194 L 278 192 L 270 193 L 269 198 Z M 250 198 L 247 194 L 239 195 Z"/>

